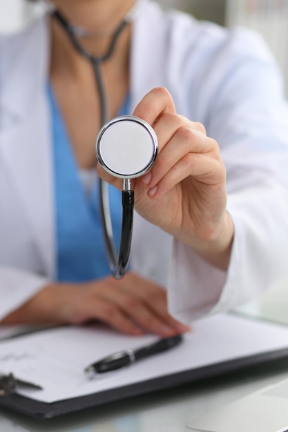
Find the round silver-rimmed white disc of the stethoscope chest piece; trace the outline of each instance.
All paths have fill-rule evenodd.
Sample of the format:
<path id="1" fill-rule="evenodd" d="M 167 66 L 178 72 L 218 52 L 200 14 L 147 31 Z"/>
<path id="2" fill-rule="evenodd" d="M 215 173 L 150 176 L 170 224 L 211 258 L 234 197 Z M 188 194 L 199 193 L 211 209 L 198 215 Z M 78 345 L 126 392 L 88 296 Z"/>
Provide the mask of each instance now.
<path id="1" fill-rule="evenodd" d="M 96 143 L 99 164 L 122 179 L 144 175 L 153 165 L 157 149 L 153 128 L 146 121 L 128 115 L 104 125 Z"/>

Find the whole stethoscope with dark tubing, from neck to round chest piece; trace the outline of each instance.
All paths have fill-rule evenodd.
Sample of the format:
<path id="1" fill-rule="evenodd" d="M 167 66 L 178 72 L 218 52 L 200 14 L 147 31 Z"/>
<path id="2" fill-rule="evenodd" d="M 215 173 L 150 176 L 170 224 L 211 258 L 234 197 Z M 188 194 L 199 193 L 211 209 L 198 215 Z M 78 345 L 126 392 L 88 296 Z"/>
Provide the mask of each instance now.
<path id="1" fill-rule="evenodd" d="M 96 139 L 95 152 L 99 164 L 111 175 L 123 179 L 122 188 L 122 231 L 119 252 L 116 253 L 109 206 L 108 184 L 99 179 L 99 208 L 109 266 L 116 279 L 126 273 L 133 232 L 134 191 L 131 179 L 148 172 L 158 151 L 155 132 L 146 121 L 133 116 L 121 116 L 110 120 L 102 63 L 113 54 L 117 39 L 124 28 L 135 19 L 143 0 L 137 0 L 113 33 L 110 46 L 101 57 L 91 55 L 79 43 L 77 37 L 88 35 L 85 29 L 73 26 L 58 10 L 53 16 L 66 30 L 74 48 L 93 66 L 99 92 L 102 129 Z"/>

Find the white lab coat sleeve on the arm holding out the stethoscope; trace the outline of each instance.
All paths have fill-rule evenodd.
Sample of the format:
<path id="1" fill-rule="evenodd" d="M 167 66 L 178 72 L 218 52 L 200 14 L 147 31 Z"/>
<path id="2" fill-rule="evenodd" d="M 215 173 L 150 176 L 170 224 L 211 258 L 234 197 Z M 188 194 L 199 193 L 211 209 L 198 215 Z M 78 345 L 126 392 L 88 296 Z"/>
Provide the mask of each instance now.
<path id="1" fill-rule="evenodd" d="M 278 68 L 250 35 L 232 35 L 218 57 L 205 77 L 202 112 L 227 169 L 235 237 L 227 272 L 174 241 L 169 308 L 184 322 L 288 281 L 288 110 Z"/>

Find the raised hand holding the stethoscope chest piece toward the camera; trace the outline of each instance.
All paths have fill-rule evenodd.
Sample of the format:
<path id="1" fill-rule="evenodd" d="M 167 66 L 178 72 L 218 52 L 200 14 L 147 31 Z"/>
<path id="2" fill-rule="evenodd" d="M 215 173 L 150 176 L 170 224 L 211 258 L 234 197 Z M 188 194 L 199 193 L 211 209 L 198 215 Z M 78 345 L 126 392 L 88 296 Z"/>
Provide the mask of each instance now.
<path id="1" fill-rule="evenodd" d="M 226 211 L 226 171 L 218 144 L 202 124 L 177 115 L 164 88 L 148 92 L 133 115 L 153 126 L 159 142 L 149 173 L 133 180 L 135 209 L 212 264 L 227 268 L 233 224 Z M 122 188 L 122 180 L 99 164 L 97 171 Z"/>

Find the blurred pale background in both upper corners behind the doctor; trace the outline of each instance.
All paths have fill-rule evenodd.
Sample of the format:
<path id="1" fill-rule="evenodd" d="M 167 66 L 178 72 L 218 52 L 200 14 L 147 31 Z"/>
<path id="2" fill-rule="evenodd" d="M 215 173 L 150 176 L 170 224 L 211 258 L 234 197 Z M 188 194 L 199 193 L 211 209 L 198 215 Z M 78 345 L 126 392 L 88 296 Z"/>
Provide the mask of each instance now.
<path id="1" fill-rule="evenodd" d="M 223 26 L 245 26 L 262 34 L 285 79 L 288 95 L 288 0 L 158 0 Z M 0 0 L 0 32 L 25 28 L 42 13 L 25 0 Z"/>

